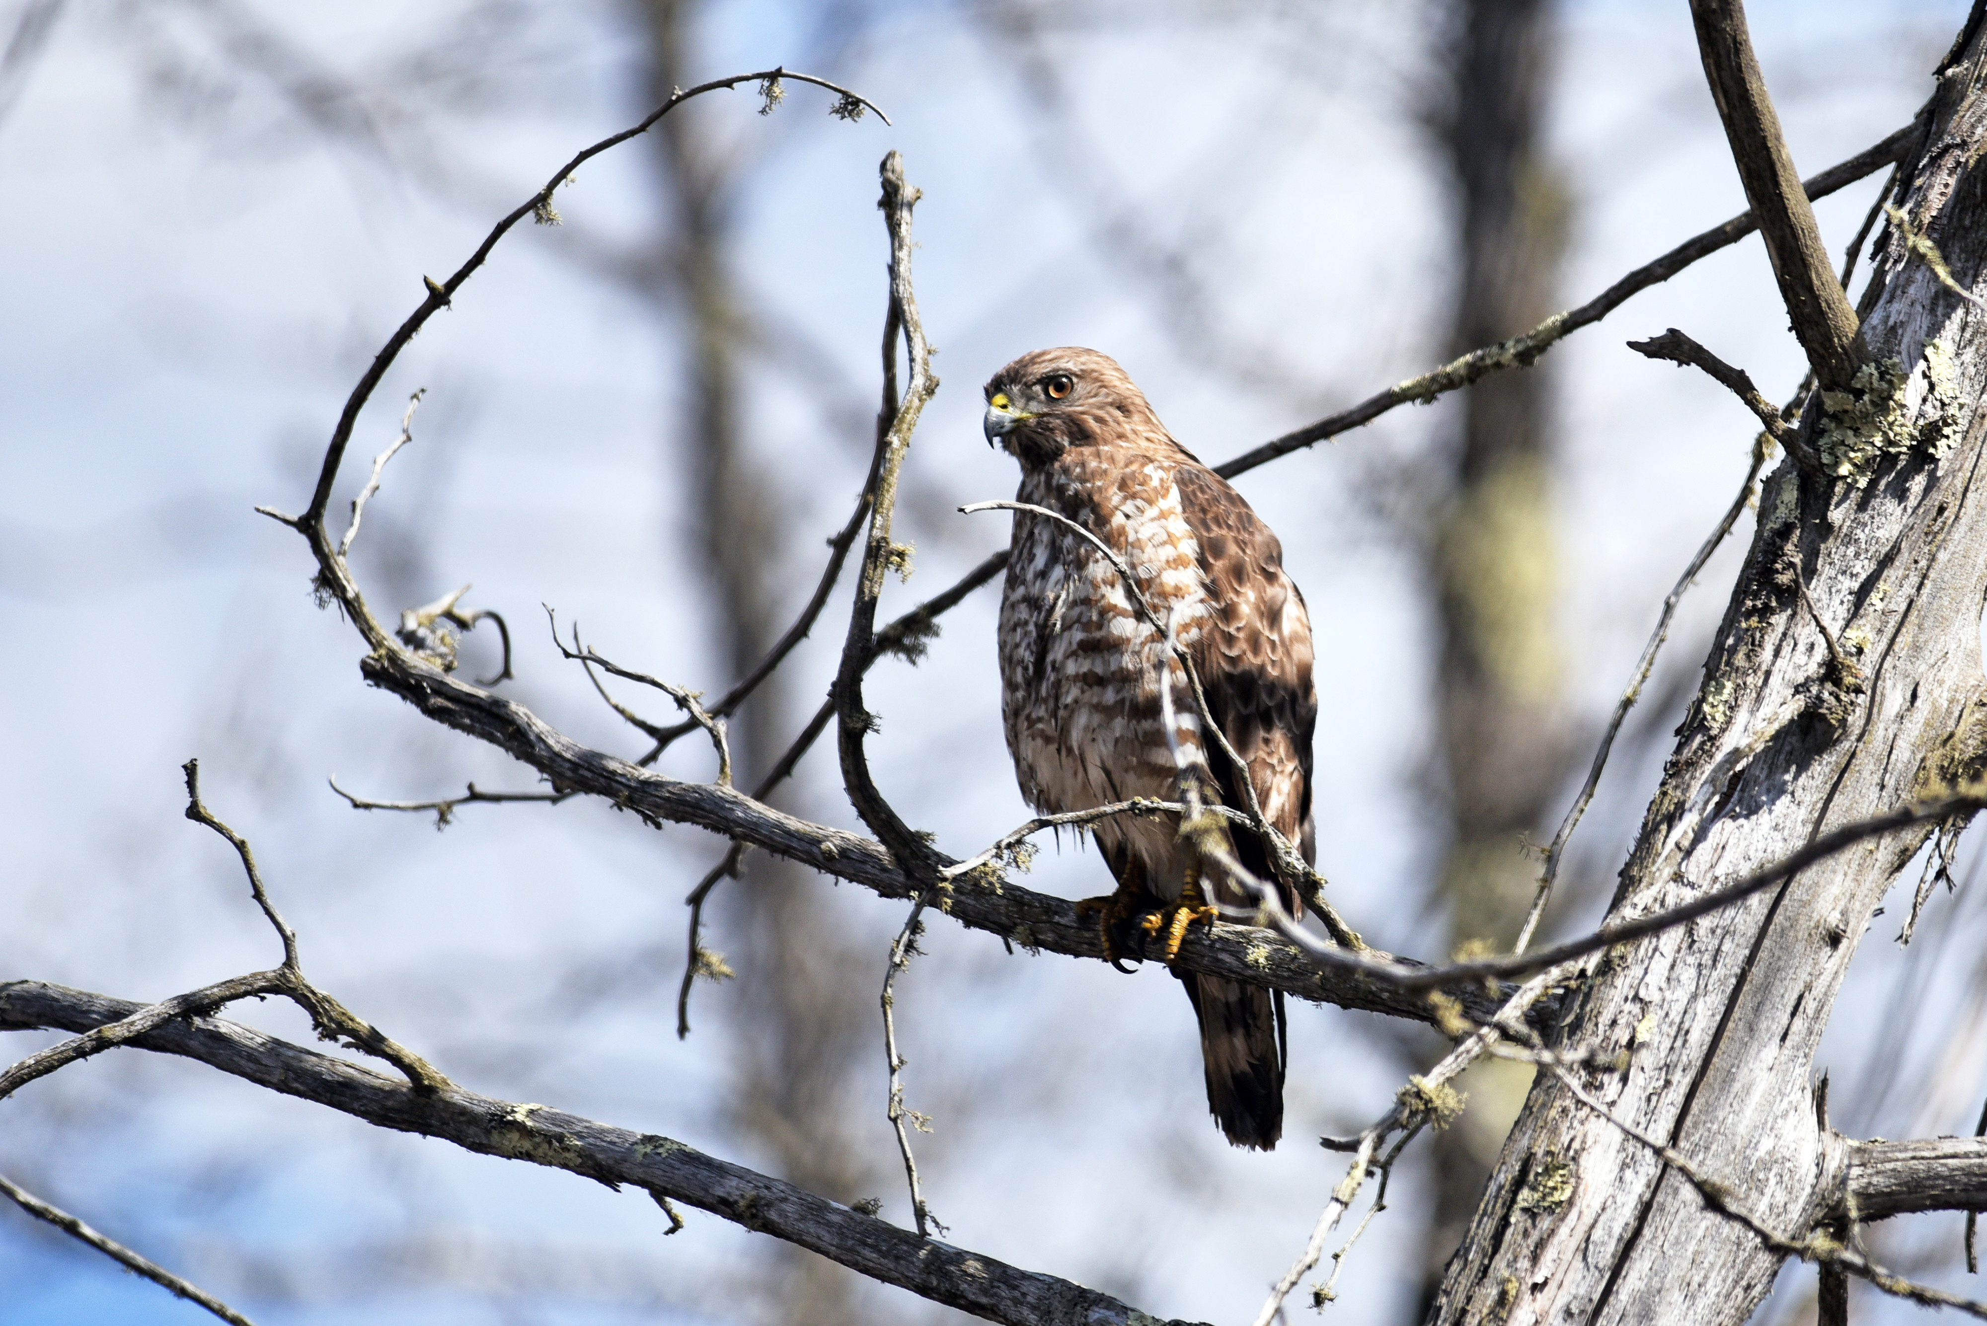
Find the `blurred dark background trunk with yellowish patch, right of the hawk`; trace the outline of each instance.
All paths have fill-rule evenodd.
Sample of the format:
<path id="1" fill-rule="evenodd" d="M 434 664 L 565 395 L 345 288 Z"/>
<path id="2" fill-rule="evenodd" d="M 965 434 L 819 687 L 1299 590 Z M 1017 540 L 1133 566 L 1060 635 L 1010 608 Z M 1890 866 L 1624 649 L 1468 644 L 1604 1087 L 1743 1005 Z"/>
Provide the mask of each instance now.
<path id="1" fill-rule="evenodd" d="M 1456 179 L 1458 280 L 1451 351 L 1536 326 L 1554 308 L 1564 197 L 1540 145 L 1552 10 L 1542 0 L 1454 6 L 1454 101 L 1443 147 Z M 1449 852 L 1437 887 L 1451 947 L 1508 949 L 1538 879 L 1524 838 L 1544 838 L 1572 748 L 1552 530 L 1548 367 L 1498 373 L 1462 395 L 1451 492 L 1427 532 L 1441 631 L 1437 740 Z M 1421 1304 L 1468 1229 L 1530 1070 L 1484 1058 L 1458 1082 L 1472 1108 L 1437 1133 Z"/>

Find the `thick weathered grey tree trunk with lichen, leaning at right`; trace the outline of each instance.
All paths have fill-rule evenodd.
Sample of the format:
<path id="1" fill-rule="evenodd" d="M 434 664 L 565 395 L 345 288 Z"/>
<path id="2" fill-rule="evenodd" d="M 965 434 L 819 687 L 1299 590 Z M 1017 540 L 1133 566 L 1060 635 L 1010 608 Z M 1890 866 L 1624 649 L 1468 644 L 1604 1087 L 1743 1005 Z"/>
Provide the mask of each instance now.
<path id="1" fill-rule="evenodd" d="M 1929 230 L 1963 284 L 1987 260 L 1977 14 L 1941 69 L 1906 197 L 1913 230 Z M 1830 474 L 1782 464 L 1764 488 L 1703 691 L 1621 873 L 1617 917 L 1981 772 L 1987 504 L 1975 494 L 1975 403 L 1987 328 L 1896 230 L 1874 282 L 1862 337 L 1876 363 L 1858 371 L 1858 393 L 1808 403 L 1802 429 Z M 1870 840 L 1776 891 L 1625 945 L 1590 965 L 1570 1002 L 1566 1044 L 1631 1054 L 1623 1074 L 1588 1074 L 1588 1090 L 1786 1235 L 1830 1219 L 1848 1147 L 1814 1118 L 1814 1048 L 1872 911 L 1925 836 Z M 1548 1171 L 1556 1181 L 1538 1183 Z M 1778 1262 L 1542 1076 L 1433 1320 L 1737 1324 Z"/>

